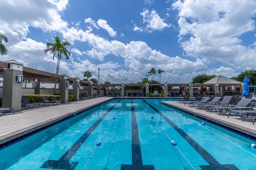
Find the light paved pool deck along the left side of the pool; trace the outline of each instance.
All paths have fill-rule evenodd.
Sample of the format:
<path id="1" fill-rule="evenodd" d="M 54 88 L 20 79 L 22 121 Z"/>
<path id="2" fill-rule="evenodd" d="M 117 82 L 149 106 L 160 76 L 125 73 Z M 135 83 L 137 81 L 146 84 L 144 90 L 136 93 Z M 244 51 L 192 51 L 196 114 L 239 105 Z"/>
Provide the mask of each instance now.
<path id="1" fill-rule="evenodd" d="M 111 99 L 113 97 L 99 97 L 3 115 L 0 117 L 0 145 Z"/>

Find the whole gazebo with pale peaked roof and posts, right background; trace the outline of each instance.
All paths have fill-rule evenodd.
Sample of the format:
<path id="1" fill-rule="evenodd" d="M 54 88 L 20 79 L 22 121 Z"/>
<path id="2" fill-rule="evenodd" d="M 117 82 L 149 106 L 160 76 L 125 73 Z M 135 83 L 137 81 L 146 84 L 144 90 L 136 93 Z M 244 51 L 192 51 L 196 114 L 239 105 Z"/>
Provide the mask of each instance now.
<path id="1" fill-rule="evenodd" d="M 239 86 L 240 87 L 240 91 L 243 90 L 243 83 L 233 80 L 233 79 L 229 79 L 226 78 L 222 75 L 218 75 L 214 78 L 212 78 L 211 80 L 208 80 L 206 82 L 203 83 L 205 86 L 213 86 L 214 87 L 214 92 L 215 92 L 215 96 L 217 95 L 223 95 L 223 91 L 224 91 L 224 87 L 227 86 L 231 86 L 231 87 L 236 87 Z"/>

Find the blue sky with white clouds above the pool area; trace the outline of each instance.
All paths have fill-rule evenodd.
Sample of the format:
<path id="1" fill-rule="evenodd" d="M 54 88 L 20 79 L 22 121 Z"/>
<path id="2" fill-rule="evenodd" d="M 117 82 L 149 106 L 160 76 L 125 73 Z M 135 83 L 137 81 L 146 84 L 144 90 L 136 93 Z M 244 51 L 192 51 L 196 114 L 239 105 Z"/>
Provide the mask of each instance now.
<path id="1" fill-rule="evenodd" d="M 251 0 L 1 0 L 9 42 L 0 60 L 54 73 L 57 60 L 44 49 L 59 36 L 71 44 L 59 73 L 70 77 L 98 78 L 100 68 L 102 83 L 132 83 L 151 67 L 164 71 L 162 83 L 234 77 L 256 69 L 255 14 Z"/>

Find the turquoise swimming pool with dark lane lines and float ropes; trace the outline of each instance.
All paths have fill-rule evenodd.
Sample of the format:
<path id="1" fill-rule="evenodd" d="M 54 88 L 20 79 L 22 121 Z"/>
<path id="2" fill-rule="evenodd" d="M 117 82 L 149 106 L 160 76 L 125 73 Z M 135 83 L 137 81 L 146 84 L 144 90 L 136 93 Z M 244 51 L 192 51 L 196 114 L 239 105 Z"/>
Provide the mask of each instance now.
<path id="1" fill-rule="evenodd" d="M 110 100 L 0 150 L 0 169 L 256 169 L 255 141 L 161 100 Z"/>

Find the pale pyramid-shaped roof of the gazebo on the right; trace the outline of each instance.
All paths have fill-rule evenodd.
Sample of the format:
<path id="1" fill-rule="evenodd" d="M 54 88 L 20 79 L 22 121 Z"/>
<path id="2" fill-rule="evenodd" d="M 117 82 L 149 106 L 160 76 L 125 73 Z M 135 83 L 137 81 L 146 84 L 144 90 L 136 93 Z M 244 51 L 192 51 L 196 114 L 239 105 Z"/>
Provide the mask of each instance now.
<path id="1" fill-rule="evenodd" d="M 220 85 L 240 85 L 242 82 L 226 78 L 222 75 L 218 75 L 211 80 L 204 82 L 203 84 L 220 84 Z"/>

